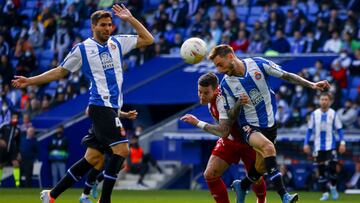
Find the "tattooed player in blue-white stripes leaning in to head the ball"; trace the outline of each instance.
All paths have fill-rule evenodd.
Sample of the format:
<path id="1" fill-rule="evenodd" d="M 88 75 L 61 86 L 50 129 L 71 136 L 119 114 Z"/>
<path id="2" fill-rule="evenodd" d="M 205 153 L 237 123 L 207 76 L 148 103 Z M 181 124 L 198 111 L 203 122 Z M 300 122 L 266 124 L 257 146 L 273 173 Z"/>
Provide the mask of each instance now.
<path id="1" fill-rule="evenodd" d="M 275 124 L 275 94 L 269 87 L 269 76 L 287 80 L 314 90 L 329 88 L 327 81 L 317 83 L 286 72 L 272 61 L 261 57 L 240 59 L 229 45 L 214 47 L 209 59 L 220 73 L 226 74 L 220 83 L 225 97 L 225 109 L 229 109 L 241 94 L 249 97 L 249 103 L 241 107 L 237 122 L 245 131 L 246 142 L 262 155 L 266 172 L 283 203 L 296 202 L 298 195 L 290 195 L 282 181 L 276 162 L 274 146 L 277 135 Z M 246 194 L 245 192 L 241 194 Z"/>

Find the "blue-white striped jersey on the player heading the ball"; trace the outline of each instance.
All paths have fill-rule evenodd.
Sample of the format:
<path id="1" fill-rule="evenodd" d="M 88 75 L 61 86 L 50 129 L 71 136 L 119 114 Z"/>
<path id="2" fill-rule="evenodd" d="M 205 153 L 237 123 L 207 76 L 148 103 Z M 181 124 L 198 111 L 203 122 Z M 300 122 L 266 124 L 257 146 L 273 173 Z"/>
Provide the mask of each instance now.
<path id="1" fill-rule="evenodd" d="M 242 59 L 245 74 L 242 77 L 225 75 L 221 81 L 222 94 L 225 97 L 225 109 L 230 109 L 245 93 L 249 103 L 241 107 L 238 116 L 240 126 L 252 125 L 269 128 L 275 125 L 275 93 L 269 86 L 269 76 L 281 77 L 284 71 L 272 61 L 262 57 Z"/>

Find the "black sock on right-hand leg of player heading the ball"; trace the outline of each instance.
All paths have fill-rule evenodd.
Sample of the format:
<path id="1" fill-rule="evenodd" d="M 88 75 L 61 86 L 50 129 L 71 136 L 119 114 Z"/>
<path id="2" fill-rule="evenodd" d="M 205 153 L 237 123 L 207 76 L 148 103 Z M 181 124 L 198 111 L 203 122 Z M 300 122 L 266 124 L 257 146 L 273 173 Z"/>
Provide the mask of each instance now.
<path id="1" fill-rule="evenodd" d="M 275 156 L 270 156 L 270 157 L 266 157 L 264 158 L 265 161 L 265 167 L 266 167 L 266 171 L 267 174 L 270 178 L 270 180 L 274 183 L 274 187 L 275 190 L 277 191 L 277 193 L 280 195 L 281 199 L 283 198 L 283 196 L 285 195 L 285 193 L 287 193 L 283 180 L 282 180 L 282 175 L 279 172 L 279 170 L 277 169 L 277 164 L 276 164 L 276 157 Z"/>

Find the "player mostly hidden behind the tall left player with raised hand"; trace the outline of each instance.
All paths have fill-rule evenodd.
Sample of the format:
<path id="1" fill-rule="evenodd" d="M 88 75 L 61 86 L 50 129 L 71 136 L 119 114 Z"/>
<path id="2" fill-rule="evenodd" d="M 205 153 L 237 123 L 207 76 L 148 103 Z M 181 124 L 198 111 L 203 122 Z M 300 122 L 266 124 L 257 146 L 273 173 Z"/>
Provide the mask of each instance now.
<path id="1" fill-rule="evenodd" d="M 88 108 L 86 109 L 86 114 L 88 115 Z M 135 120 L 137 118 L 137 111 L 131 110 L 128 112 L 119 111 L 119 117 L 120 118 L 127 118 L 130 120 Z M 125 131 L 122 131 L 125 133 Z M 124 135 L 125 136 L 125 135 Z M 111 155 L 112 151 L 109 146 L 106 145 L 99 145 L 96 136 L 94 134 L 94 130 L 91 127 L 88 131 L 88 134 L 83 137 L 81 140 L 81 143 L 89 148 L 95 148 L 98 151 L 100 151 L 102 154 L 107 153 L 107 155 Z M 103 156 L 101 158 L 103 161 L 99 161 L 98 164 L 96 164 L 88 173 L 87 180 L 85 182 L 83 193 L 80 196 L 80 203 L 91 203 L 91 200 L 89 199 L 90 192 L 92 192 L 92 196 L 96 199 L 97 198 L 97 185 L 104 180 L 104 161 L 105 157 Z"/>

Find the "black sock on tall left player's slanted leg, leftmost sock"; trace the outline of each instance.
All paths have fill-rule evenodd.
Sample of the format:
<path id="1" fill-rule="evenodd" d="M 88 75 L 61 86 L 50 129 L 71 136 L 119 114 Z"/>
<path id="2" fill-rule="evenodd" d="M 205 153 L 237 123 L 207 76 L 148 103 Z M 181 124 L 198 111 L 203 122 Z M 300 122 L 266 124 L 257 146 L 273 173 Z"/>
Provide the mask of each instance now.
<path id="1" fill-rule="evenodd" d="M 82 158 L 67 171 L 66 175 L 51 190 L 50 196 L 56 199 L 66 189 L 70 188 L 75 182 L 79 181 L 93 166 Z"/>

